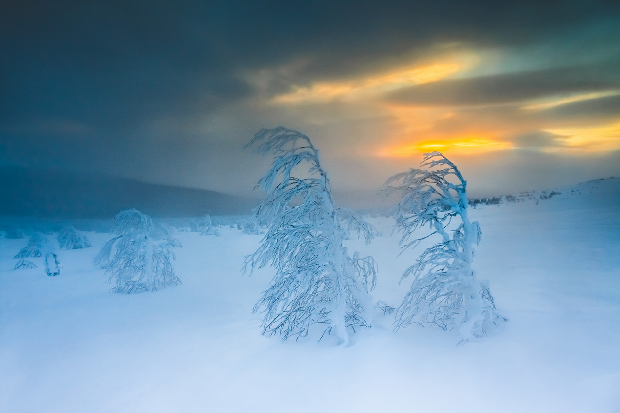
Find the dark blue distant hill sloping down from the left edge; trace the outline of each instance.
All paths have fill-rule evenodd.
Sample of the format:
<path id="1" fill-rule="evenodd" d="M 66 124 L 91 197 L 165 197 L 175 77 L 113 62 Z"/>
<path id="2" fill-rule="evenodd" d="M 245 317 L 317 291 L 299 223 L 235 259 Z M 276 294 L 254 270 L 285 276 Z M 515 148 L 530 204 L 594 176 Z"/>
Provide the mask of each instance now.
<path id="1" fill-rule="evenodd" d="M 205 189 L 30 168 L 0 168 L 0 215 L 109 218 L 136 208 L 154 217 L 249 214 L 257 201 Z"/>

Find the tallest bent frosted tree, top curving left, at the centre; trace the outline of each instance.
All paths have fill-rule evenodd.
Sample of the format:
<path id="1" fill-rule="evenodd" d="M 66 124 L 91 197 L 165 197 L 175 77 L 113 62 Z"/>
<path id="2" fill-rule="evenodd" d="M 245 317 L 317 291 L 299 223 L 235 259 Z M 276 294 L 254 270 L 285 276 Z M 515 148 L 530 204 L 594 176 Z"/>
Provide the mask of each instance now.
<path id="1" fill-rule="evenodd" d="M 283 127 L 263 129 L 250 146 L 275 155 L 257 184 L 267 197 L 254 209 L 254 219 L 267 225 L 267 233 L 245 266 L 275 268 L 254 307 L 255 312 L 263 310 L 263 334 L 298 339 L 308 336 L 314 324 L 325 324 L 323 335 L 334 333 L 347 345 L 348 328 L 371 323 L 369 292 L 376 263 L 370 257 L 350 257 L 342 241 L 347 222 L 366 241 L 372 228 L 355 213 L 334 207 L 329 180 L 308 136 Z"/>

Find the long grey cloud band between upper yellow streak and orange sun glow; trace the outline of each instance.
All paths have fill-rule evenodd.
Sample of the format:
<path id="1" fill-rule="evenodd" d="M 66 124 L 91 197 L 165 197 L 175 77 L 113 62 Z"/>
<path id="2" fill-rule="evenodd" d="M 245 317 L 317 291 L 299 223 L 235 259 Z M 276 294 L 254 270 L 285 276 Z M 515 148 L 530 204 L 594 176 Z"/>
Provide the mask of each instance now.
<path id="1" fill-rule="evenodd" d="M 618 71 L 610 71 L 610 66 L 554 68 L 440 80 L 389 93 L 387 100 L 405 105 L 467 106 L 522 102 L 565 93 L 596 92 L 620 87 Z"/>

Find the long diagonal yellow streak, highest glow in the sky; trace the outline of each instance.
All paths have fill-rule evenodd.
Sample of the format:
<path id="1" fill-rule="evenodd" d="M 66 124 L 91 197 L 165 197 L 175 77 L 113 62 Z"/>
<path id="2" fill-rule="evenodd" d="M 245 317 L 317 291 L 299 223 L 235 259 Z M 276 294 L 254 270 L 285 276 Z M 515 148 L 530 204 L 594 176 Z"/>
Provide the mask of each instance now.
<path id="1" fill-rule="evenodd" d="M 293 92 L 278 95 L 275 103 L 321 103 L 334 98 L 353 99 L 368 93 L 381 93 L 387 90 L 436 82 L 456 72 L 469 68 L 474 63 L 474 56 L 457 55 L 435 63 L 392 69 L 392 71 L 375 74 L 358 79 L 338 82 L 319 82 L 309 87 L 296 87 Z"/>

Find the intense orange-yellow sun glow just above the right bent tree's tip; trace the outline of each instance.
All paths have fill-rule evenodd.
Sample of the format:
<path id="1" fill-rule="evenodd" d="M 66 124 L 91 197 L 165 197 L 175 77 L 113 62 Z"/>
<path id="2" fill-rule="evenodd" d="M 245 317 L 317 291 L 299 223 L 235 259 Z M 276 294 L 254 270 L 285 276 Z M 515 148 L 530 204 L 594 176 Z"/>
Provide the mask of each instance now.
<path id="1" fill-rule="evenodd" d="M 481 154 L 492 150 L 510 149 L 510 142 L 499 142 L 480 137 L 461 137 L 456 139 L 423 141 L 414 145 L 386 148 L 379 152 L 384 157 L 407 157 L 438 150 L 458 154 Z"/>

